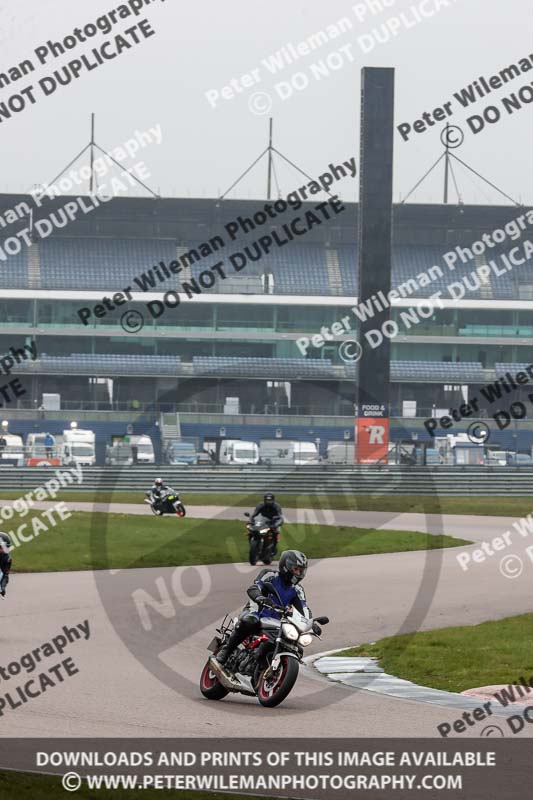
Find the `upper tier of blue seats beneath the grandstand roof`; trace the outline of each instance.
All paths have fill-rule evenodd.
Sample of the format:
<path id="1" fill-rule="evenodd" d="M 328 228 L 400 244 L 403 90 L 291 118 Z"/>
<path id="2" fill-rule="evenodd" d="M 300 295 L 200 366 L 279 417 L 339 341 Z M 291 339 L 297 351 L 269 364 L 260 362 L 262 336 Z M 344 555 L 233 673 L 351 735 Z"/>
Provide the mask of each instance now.
<path id="1" fill-rule="evenodd" d="M 180 244 L 180 249 L 194 245 Z M 240 248 L 241 250 L 244 247 Z M 358 254 L 357 245 L 329 246 L 329 253 L 338 259 L 340 284 L 328 272 L 325 245 L 292 242 L 282 249 L 272 250 L 259 261 L 248 261 L 242 273 L 232 275 L 231 280 L 219 281 L 217 291 L 221 293 L 261 293 L 261 275 L 271 272 L 274 278 L 274 294 L 305 295 L 357 295 Z M 491 254 L 497 257 L 497 253 Z M 111 289 L 132 285 L 133 279 L 149 270 L 159 261 L 176 259 L 177 242 L 172 239 L 115 239 L 115 238 L 68 238 L 57 237 L 44 240 L 40 245 L 40 275 L 43 289 Z M 443 249 L 439 247 L 398 245 L 392 253 L 392 288 L 406 284 L 433 265 L 443 271 L 426 287 L 419 287 L 418 297 L 429 297 L 437 291 L 447 295 L 447 287 L 453 281 L 461 281 L 476 268 L 476 263 L 463 264 L 458 261 L 453 271 L 443 262 Z M 195 278 L 214 263 L 214 259 L 202 259 L 191 265 L 190 275 Z M 189 273 L 184 271 L 183 277 Z M 176 283 L 178 278 L 172 283 Z M 167 283 L 167 282 L 165 282 Z M 490 276 L 481 289 L 468 290 L 472 298 L 512 299 L 518 297 L 519 285 L 533 285 L 533 266 L 526 264 L 501 277 Z M 24 288 L 28 286 L 27 253 L 11 257 L 0 271 L 0 286 Z M 151 291 L 164 291 L 168 285 L 156 283 Z M 406 293 L 410 296 L 410 293 Z"/>

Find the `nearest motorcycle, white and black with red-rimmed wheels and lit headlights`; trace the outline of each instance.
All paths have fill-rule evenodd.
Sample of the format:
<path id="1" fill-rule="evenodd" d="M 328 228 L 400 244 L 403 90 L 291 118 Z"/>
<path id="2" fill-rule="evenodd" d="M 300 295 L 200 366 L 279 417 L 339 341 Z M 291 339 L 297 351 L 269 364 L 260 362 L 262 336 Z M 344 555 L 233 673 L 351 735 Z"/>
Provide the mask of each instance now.
<path id="1" fill-rule="evenodd" d="M 308 619 L 293 606 L 275 606 L 281 619 L 261 617 L 261 632 L 235 648 L 224 667 L 215 655 L 233 630 L 235 620 L 224 617 L 210 642 L 210 656 L 200 677 L 200 691 L 208 700 L 222 700 L 230 692 L 257 697 L 262 706 L 279 705 L 296 683 L 304 647 L 320 639 L 328 617 Z"/>

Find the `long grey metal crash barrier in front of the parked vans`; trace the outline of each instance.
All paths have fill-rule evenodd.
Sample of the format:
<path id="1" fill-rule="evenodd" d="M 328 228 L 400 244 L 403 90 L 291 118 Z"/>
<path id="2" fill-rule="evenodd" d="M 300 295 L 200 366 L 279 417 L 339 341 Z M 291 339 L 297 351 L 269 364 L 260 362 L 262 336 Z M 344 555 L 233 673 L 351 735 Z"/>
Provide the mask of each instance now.
<path id="1" fill-rule="evenodd" d="M 35 488 L 54 471 L 0 467 L 0 491 Z M 531 467 L 85 467 L 83 485 L 72 488 L 138 491 L 141 499 L 157 475 L 181 492 L 533 496 Z"/>

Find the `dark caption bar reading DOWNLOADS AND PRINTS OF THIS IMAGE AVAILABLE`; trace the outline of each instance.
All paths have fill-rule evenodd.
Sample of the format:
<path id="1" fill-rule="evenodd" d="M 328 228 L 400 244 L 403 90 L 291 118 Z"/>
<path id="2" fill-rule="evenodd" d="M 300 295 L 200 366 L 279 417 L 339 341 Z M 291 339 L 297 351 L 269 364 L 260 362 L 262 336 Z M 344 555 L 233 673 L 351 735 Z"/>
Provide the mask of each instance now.
<path id="1" fill-rule="evenodd" d="M 522 800 L 529 740 L 8 739 L 0 769 L 71 790 L 170 789 L 266 797 Z"/>

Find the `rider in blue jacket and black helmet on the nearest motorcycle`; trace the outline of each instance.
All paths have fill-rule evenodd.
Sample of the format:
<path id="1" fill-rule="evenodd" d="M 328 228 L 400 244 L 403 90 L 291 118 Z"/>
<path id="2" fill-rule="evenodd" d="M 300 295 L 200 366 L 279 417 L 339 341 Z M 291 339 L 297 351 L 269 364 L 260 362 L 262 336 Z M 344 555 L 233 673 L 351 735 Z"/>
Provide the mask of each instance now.
<path id="1" fill-rule="evenodd" d="M 300 614 L 311 618 L 305 592 L 299 586 L 300 581 L 305 578 L 307 563 L 307 556 L 299 550 L 284 550 L 279 557 L 277 572 L 267 567 L 259 573 L 247 590 L 250 601 L 228 641 L 215 656 L 221 666 L 247 636 L 259 632 L 261 617 L 280 619 L 280 614 L 274 606 L 293 605 Z"/>

